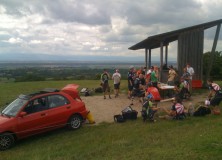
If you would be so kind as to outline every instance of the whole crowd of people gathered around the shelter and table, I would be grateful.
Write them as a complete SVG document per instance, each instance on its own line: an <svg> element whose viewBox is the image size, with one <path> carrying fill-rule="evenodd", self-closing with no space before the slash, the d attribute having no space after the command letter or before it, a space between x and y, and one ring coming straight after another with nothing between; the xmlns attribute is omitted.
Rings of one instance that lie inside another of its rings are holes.
<svg viewBox="0 0 222 160"><path fill-rule="evenodd" d="M183 69L183 74L179 77L178 73L175 71L173 66L169 66L168 79L167 84L175 86L175 95L173 98L173 104L170 110L163 109L166 112L165 116L160 116L160 118L173 118L173 119L184 119L186 113L188 113L189 108L185 109L185 106L182 103L184 96L190 96L190 92L192 90L192 78L194 75L194 69L187 64ZM103 88L104 99L106 99L106 94L108 93L110 96L110 86L109 79L113 79L114 82L114 93L115 97L119 96L119 88L121 81L121 74L119 70L116 69L115 73L110 76L106 69L101 74L101 86ZM141 98L142 102L142 116L144 121L149 119L150 121L154 121L154 114L158 111L158 107L153 105L153 96L151 93L147 92L147 88L150 86L158 88L158 78L159 78L159 70L156 66L151 66L149 70L145 67L141 67L139 70L136 70L134 66L129 67L128 71L128 98L132 98L134 96L138 96ZM178 82L176 79L180 79ZM219 110L219 104L222 101L222 90L221 87L214 83L211 79L207 80L207 84L209 85L209 104L213 106L213 112Z"/></svg>

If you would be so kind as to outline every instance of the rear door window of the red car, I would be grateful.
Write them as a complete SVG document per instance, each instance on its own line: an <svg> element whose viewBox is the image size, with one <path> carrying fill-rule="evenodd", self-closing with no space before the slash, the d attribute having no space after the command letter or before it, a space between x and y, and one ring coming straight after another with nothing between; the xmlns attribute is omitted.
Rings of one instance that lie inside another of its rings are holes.
<svg viewBox="0 0 222 160"><path fill-rule="evenodd" d="M64 106L66 104L69 104L69 101L67 98L65 98L62 95L52 95L48 96L48 101L49 101L49 108L55 108L59 106Z"/></svg>

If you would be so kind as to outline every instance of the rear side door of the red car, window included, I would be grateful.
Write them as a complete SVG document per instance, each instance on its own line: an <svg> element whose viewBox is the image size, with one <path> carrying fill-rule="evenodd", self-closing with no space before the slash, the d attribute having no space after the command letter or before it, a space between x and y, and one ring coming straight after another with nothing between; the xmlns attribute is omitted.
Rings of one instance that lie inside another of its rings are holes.
<svg viewBox="0 0 222 160"><path fill-rule="evenodd" d="M67 119L72 114L70 101L63 95L53 94L48 96L48 105L48 125L56 128L66 125Z"/></svg>

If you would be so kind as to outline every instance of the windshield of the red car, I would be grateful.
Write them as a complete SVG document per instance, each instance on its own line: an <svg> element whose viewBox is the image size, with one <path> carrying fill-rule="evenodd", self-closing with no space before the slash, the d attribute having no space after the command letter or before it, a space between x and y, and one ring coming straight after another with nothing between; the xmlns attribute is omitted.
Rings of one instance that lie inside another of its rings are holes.
<svg viewBox="0 0 222 160"><path fill-rule="evenodd" d="M28 102L27 99L17 98L3 109L2 114L10 117L16 116L18 111Z"/></svg>

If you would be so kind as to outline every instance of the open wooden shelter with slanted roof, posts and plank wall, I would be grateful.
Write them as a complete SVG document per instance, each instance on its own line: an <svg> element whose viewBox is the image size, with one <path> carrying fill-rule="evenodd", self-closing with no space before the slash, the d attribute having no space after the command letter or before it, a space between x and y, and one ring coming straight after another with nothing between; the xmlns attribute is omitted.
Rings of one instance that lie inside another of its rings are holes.
<svg viewBox="0 0 222 160"><path fill-rule="evenodd" d="M129 49L138 50L145 49L145 65L151 66L151 50L160 48L160 81L163 77L163 64L168 64L168 45L170 42L178 40L178 53L177 53L177 65L179 74L182 73L186 63L195 70L195 79L203 78L203 47L204 47L204 30L217 26L214 43L212 47L212 53L215 52L220 26L222 19L211 21L163 34L150 36L145 40L131 46ZM163 50L165 47L165 62L163 62ZM212 58L213 60L213 58ZM209 66L212 67L212 66ZM209 68L211 69L211 68Z"/></svg>

